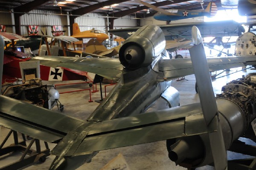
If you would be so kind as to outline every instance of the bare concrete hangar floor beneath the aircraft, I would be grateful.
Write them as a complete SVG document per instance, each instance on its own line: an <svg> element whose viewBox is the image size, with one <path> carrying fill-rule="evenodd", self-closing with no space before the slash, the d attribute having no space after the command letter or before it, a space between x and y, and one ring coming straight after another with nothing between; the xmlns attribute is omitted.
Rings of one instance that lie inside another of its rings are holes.
<svg viewBox="0 0 256 170"><path fill-rule="evenodd" d="M240 68L231 69L231 72L240 70ZM212 81L215 94L221 93L221 87L227 82L240 78L241 75L247 75L252 70L238 72L233 75L229 75L224 78L219 78ZM228 74L224 72L222 75ZM172 81L172 86L174 86L180 92L180 105L192 104L199 102L198 94L195 92L195 76L189 75L185 76L186 80L174 80ZM73 81L74 82L74 81ZM79 81L76 81L79 82ZM53 82L46 82L47 84L52 84ZM54 82L55 83L55 82ZM67 82L58 82L67 83ZM55 83L57 84L57 83ZM75 85L75 86L60 86L58 87L59 92L67 91L70 89L84 89L89 88L88 85ZM112 87L107 87L107 92L110 91ZM103 89L104 92L104 89ZM64 104L63 114L70 115L76 118L86 119L91 112L99 105L94 100L100 99L99 92L92 93L93 102L88 102L89 95L87 91L66 93L60 95L60 101ZM159 99L148 111L154 111L157 109L168 108L166 102L163 99ZM54 107L53 110L57 110ZM1 140L3 141L3 136L8 131L5 128L1 128ZM8 144L13 141L9 140ZM55 144L49 144L50 148L53 148ZM140 144L131 147L122 147L111 150L105 150L99 152L89 164L84 164L78 168L78 170L100 170L105 164L107 164L112 158L116 157L119 153L122 153L125 160L127 161L131 170L186 170L186 168L176 166L174 162L170 161L168 158L168 153L166 150L166 141L158 141L148 144ZM20 154L16 153L15 156L9 158L0 158L0 167L6 164L12 163L15 159L19 158ZM228 152L229 158L233 157L234 154ZM239 155L241 156L241 155ZM243 157L244 158L244 157ZM28 167L23 168L23 170L47 170L54 159L54 156L48 156L44 163L35 163ZM197 170L214 170L213 167L205 166L197 168Z"/></svg>

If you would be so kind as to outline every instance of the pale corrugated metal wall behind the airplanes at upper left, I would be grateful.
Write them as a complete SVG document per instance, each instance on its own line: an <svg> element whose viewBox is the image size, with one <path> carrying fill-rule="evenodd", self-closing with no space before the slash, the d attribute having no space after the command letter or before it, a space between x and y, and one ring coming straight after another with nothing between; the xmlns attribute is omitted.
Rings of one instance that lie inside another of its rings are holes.
<svg viewBox="0 0 256 170"><path fill-rule="evenodd" d="M12 19L13 14L9 13L9 11L6 9L0 9L0 11L0 25L9 25L6 26L6 32L14 32L14 28L12 26L14 24ZM21 35L28 35L29 25L38 25L39 34L41 34L42 30L44 34L47 32L47 35L52 35L52 26L61 25L63 26L63 30L66 31L64 34L69 35L67 15L64 15L64 12L63 15L59 15L59 13L60 12L54 11L32 10L27 14L23 14L20 17ZM75 22L78 23L81 31L95 28L103 32L107 32L108 28L108 18L104 17L102 14L88 13L84 16L77 17ZM137 26L137 21L129 16L114 20L114 29L129 28L134 26Z"/></svg>

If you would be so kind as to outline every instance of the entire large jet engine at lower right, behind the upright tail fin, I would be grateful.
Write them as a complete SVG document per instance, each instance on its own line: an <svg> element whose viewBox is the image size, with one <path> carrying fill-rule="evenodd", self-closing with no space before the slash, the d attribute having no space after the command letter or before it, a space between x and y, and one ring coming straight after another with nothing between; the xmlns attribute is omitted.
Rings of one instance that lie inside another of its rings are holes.
<svg viewBox="0 0 256 170"><path fill-rule="evenodd" d="M250 133L250 122L256 118L256 74L230 81L216 95L216 103L226 150L234 140ZM249 130L249 131L248 131ZM252 127L251 127L252 130ZM208 134L168 139L169 158L187 168L213 162Z"/></svg>

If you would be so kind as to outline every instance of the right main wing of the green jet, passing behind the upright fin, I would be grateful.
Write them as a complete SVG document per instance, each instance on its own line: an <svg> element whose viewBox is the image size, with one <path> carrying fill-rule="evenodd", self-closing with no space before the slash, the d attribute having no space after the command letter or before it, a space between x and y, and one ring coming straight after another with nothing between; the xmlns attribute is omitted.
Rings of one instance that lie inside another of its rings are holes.
<svg viewBox="0 0 256 170"><path fill-rule="evenodd" d="M226 58L207 58L209 71L230 69L246 65L255 65L255 56L226 57ZM166 80L172 80L185 75L194 74L192 61L190 58L161 60L159 70L164 73Z"/></svg>

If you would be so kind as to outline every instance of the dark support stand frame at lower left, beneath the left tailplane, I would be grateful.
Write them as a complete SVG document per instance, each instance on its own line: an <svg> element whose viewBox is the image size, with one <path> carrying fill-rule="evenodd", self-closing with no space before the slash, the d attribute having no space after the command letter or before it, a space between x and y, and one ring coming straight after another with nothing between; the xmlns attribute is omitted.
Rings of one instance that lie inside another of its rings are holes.
<svg viewBox="0 0 256 170"><path fill-rule="evenodd" d="M9 145L8 147L3 147L3 145L6 143L8 138L12 135L12 133L14 138L14 144ZM47 142L44 142L46 149L41 150L40 141L38 139L32 138L29 145L26 146L25 135L22 134L22 137L23 137L23 141L19 142L17 132L10 130L6 138L3 140L2 144L0 145L0 156L4 156L12 152L22 152L23 154L18 161L15 161L12 164L1 167L0 170L16 170L21 167L25 167L29 164L32 164L36 161L44 162L46 160L46 157L50 155L50 150ZM32 144L34 142L35 142L36 150L31 149ZM12 156L12 154L8 156Z"/></svg>

